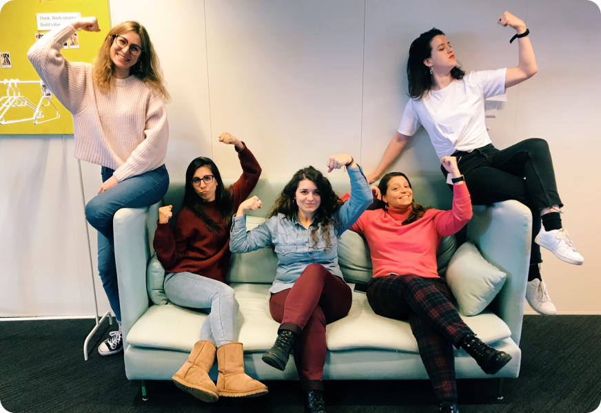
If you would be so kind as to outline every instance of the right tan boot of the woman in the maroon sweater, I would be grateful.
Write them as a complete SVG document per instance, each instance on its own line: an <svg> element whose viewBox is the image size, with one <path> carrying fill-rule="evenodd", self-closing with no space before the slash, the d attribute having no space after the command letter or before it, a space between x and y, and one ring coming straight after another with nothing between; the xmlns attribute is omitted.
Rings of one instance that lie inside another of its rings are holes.
<svg viewBox="0 0 601 413"><path fill-rule="evenodd" d="M227 343L217 349L217 392L225 397L256 397L267 394L267 386L244 372L242 343Z"/></svg>

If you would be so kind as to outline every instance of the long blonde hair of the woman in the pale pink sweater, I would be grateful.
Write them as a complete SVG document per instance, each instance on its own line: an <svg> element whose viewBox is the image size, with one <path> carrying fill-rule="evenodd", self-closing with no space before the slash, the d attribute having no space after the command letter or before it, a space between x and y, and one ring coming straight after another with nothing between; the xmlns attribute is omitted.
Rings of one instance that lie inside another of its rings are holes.
<svg viewBox="0 0 601 413"><path fill-rule="evenodd" d="M108 32L104 42L98 50L98 56L94 59L94 69L92 70L92 79L96 87L103 92L110 90L110 83L113 77L114 64L110 59L110 47L116 34L135 32L142 40L142 53L138 56L136 64L130 68L133 76L146 83L156 92L163 96L165 101L170 99L169 92L165 87L163 71L159 65L159 57L154 52L150 36L143 25L137 21L124 21L114 26Z"/></svg>

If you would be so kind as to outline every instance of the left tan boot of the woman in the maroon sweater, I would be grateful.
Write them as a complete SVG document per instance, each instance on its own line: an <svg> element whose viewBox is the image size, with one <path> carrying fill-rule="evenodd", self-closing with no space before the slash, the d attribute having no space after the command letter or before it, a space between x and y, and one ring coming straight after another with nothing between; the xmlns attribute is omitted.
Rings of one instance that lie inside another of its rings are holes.
<svg viewBox="0 0 601 413"><path fill-rule="evenodd" d="M210 341L196 341L190 357L172 377L181 390L208 403L219 399L215 383L209 377L209 370L215 362L215 350Z"/></svg>

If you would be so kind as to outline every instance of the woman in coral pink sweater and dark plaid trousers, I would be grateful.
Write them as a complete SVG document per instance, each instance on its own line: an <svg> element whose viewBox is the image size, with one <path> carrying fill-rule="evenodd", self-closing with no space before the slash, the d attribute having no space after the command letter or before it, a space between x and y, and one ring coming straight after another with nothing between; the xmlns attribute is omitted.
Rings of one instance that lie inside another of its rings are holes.
<svg viewBox="0 0 601 413"><path fill-rule="evenodd" d="M383 317L408 319L420 356L440 403L439 412L455 413L457 387L453 346L464 348L487 374L505 366L511 356L483 343L451 304L451 293L436 271L436 250L471 218L471 201L454 156L442 158L454 182L453 209L439 211L413 200L405 174L387 173L372 187L385 206L365 211L350 230L365 236L374 277L367 300Z"/></svg>

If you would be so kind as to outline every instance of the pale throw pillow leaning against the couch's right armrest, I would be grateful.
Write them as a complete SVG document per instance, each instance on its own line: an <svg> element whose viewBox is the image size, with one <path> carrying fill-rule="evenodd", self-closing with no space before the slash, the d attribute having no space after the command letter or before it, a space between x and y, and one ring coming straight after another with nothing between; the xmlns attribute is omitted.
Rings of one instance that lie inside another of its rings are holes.
<svg viewBox="0 0 601 413"><path fill-rule="evenodd" d="M447 268L447 283L465 315L484 310L499 293L507 275L482 257L471 242L459 247Z"/></svg>

